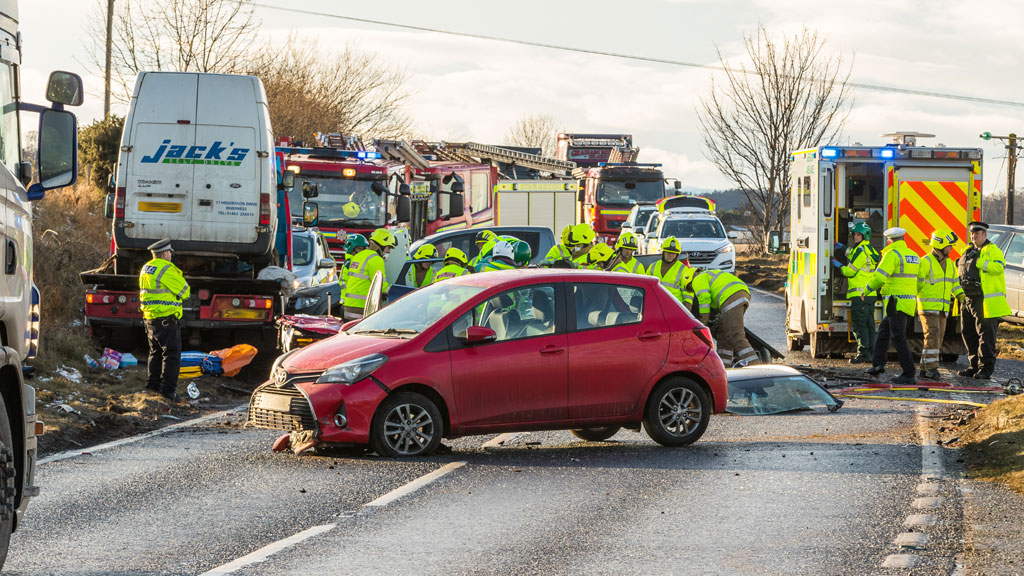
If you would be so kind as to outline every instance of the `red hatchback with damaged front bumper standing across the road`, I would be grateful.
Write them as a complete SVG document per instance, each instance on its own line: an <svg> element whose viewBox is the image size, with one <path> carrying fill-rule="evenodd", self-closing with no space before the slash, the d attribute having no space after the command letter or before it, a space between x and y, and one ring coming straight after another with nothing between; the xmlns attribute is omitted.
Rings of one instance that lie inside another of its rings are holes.
<svg viewBox="0 0 1024 576"><path fill-rule="evenodd" d="M725 410L711 333L644 276L564 270L476 274L410 293L278 359L250 425L293 450L367 445L419 456L441 438L639 429L695 442Z"/></svg>

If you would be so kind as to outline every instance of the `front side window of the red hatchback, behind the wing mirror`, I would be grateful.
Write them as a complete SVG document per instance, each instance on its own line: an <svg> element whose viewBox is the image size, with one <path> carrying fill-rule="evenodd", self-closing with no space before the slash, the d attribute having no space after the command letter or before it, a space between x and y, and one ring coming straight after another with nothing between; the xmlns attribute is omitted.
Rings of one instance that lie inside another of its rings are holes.
<svg viewBox="0 0 1024 576"><path fill-rule="evenodd" d="M554 334L555 287L544 284L502 292L456 320L452 332L459 336L470 326L490 328L499 342Z"/></svg>

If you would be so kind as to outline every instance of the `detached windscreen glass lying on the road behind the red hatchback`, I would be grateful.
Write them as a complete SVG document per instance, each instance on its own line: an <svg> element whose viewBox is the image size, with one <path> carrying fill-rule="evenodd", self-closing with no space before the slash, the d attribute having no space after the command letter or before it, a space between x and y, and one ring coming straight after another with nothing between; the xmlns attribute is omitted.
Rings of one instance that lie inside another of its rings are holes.
<svg viewBox="0 0 1024 576"><path fill-rule="evenodd" d="M729 381L725 411L739 415L779 414L824 406L835 412L843 406L821 384L800 375L769 376Z"/></svg>

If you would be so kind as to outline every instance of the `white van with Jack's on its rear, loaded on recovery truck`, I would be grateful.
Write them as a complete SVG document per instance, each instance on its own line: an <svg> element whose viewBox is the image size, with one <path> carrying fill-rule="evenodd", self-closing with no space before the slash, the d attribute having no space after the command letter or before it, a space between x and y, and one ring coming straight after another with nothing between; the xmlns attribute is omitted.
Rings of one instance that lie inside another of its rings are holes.
<svg viewBox="0 0 1024 576"><path fill-rule="evenodd" d="M254 76L143 72L118 163L119 256L170 238L178 253L273 254L273 135Z"/></svg>

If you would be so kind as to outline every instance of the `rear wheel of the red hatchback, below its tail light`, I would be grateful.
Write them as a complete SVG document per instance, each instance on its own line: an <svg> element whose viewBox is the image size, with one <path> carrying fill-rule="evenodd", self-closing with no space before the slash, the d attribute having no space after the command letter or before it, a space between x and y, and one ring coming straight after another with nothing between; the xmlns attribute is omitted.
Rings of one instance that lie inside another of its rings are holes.
<svg viewBox="0 0 1024 576"><path fill-rule="evenodd" d="M708 393L699 384L674 376L654 386L644 409L643 427L662 446L687 446L703 435L711 411Z"/></svg>

